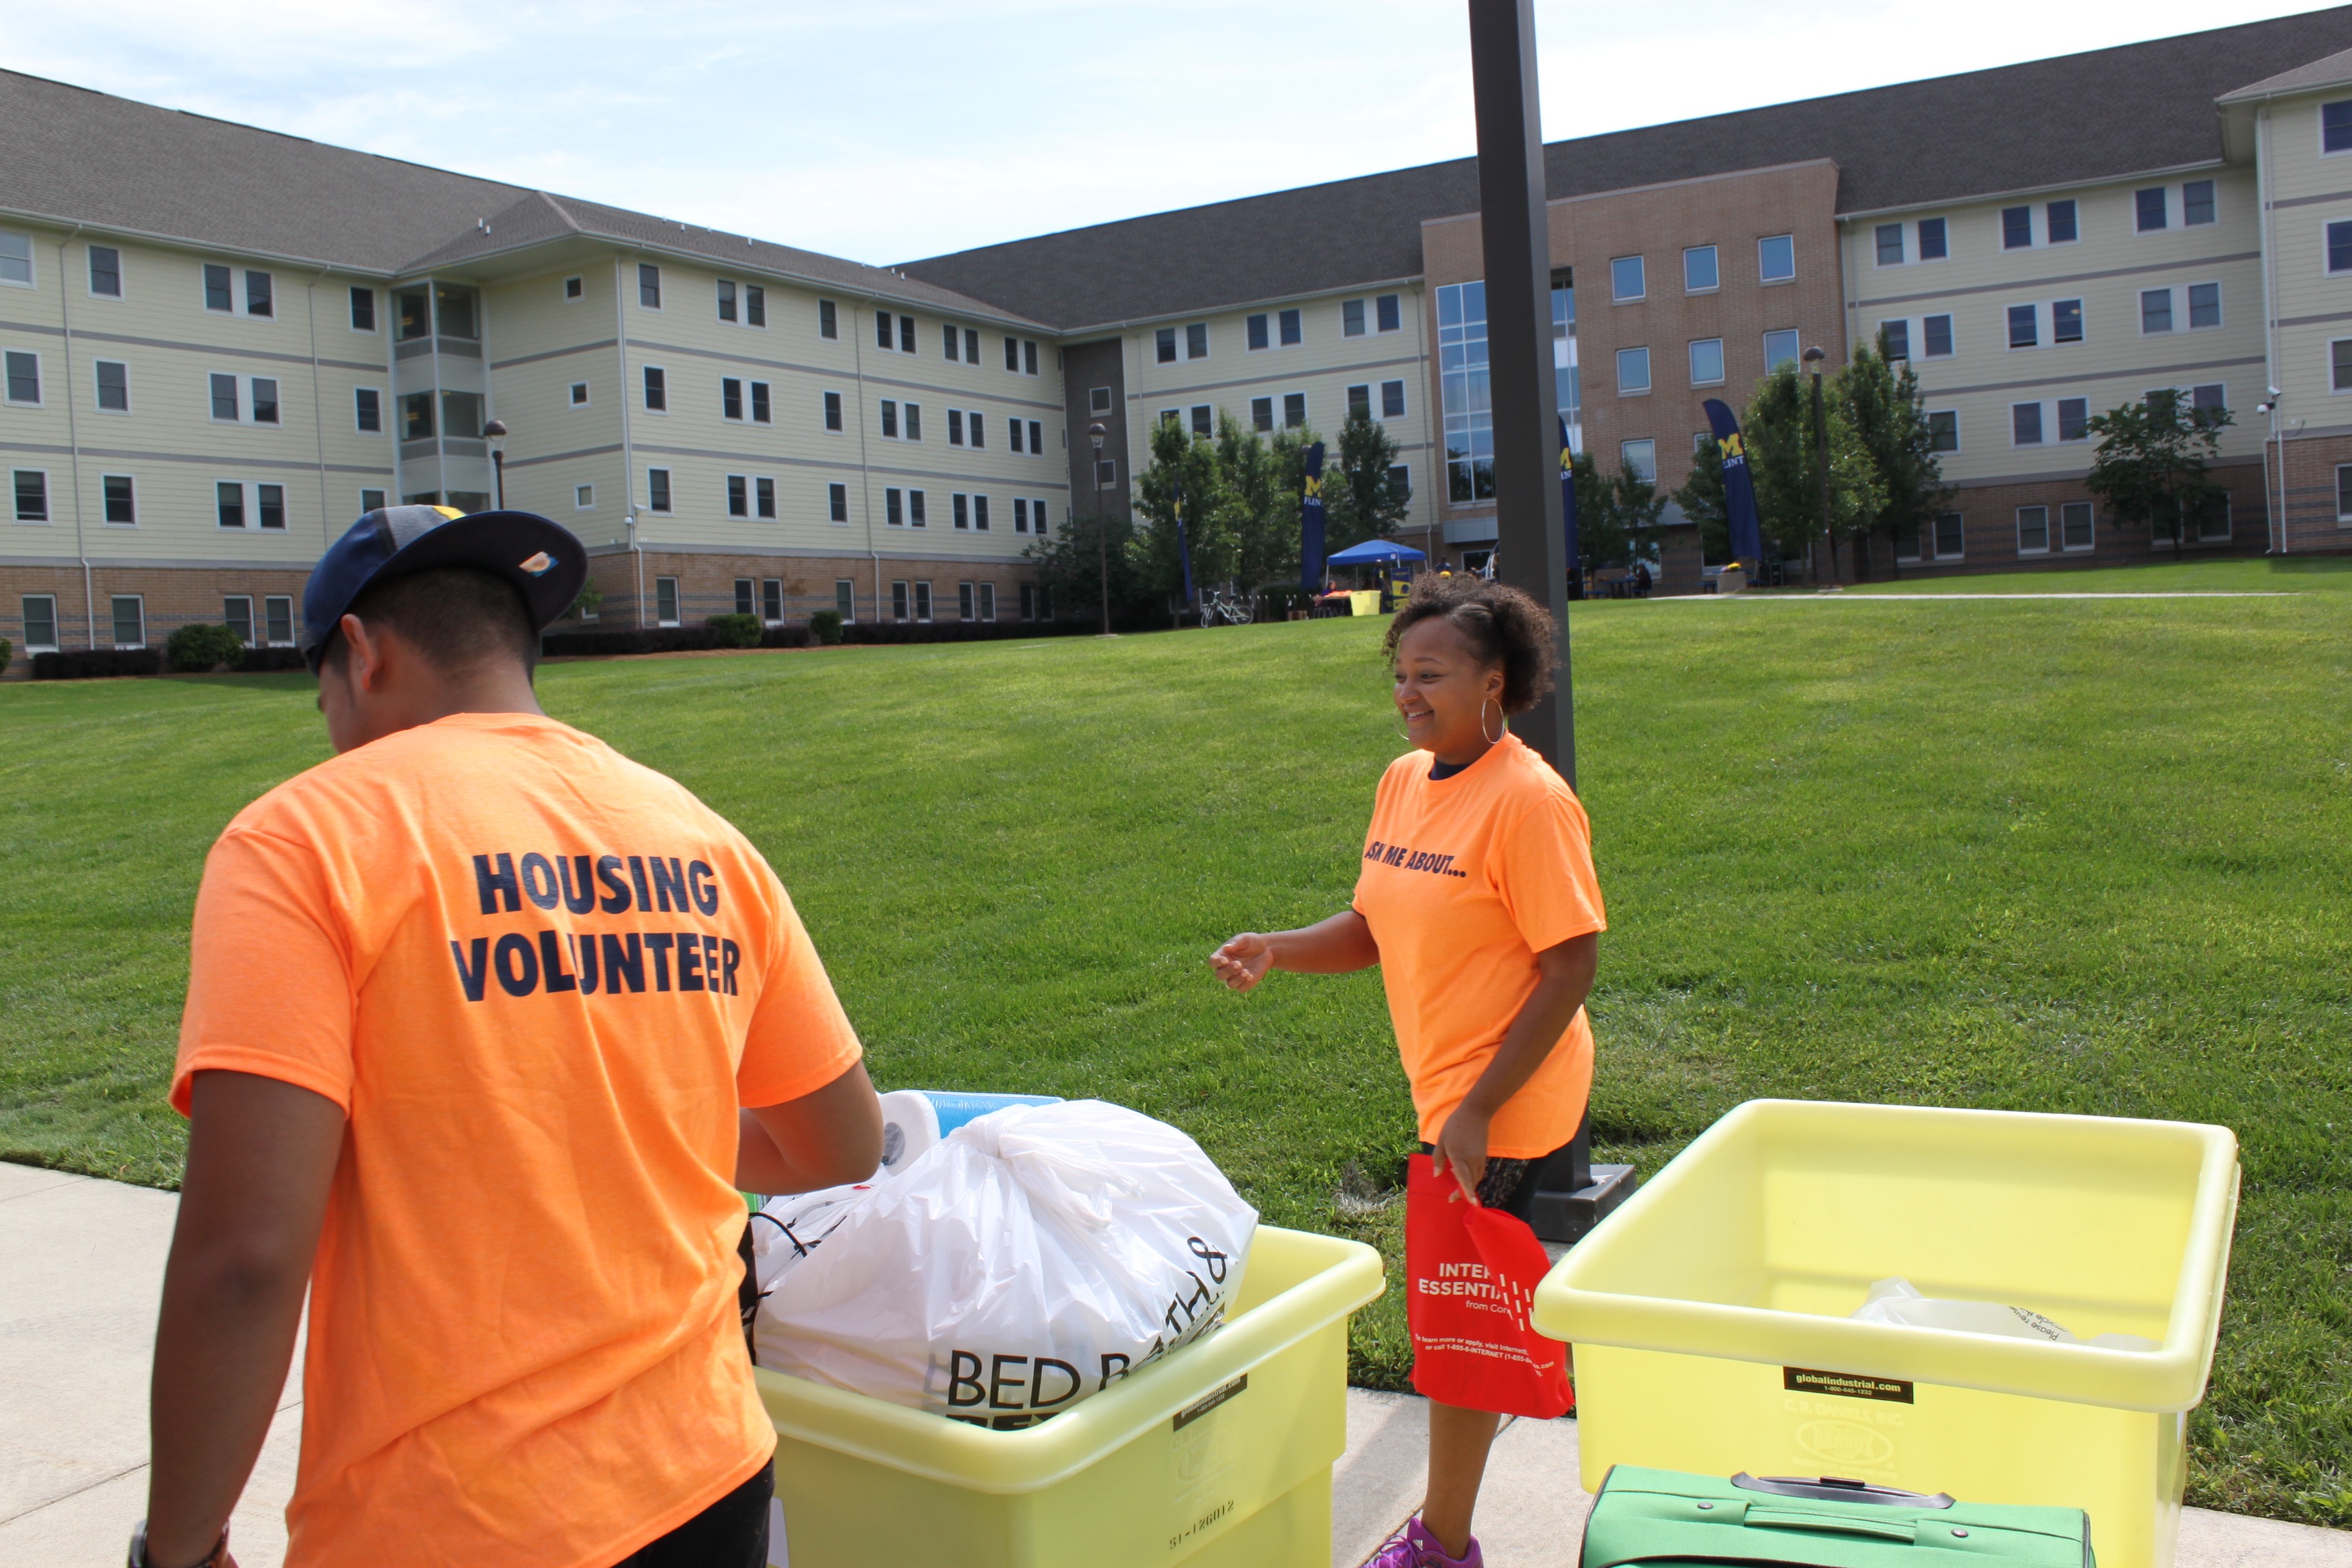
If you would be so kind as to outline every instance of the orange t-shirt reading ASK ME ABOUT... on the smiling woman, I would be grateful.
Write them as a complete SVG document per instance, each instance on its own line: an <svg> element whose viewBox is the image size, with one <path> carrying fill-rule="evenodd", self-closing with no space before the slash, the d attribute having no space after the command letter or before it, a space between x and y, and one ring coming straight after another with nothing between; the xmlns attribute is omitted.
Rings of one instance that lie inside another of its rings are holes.
<svg viewBox="0 0 2352 1568"><path fill-rule="evenodd" d="M1536 954L1609 929L1592 825L1552 764L1510 733L1451 778L1430 778L1430 762L1409 752L1388 764L1355 879L1423 1143L1437 1143L1536 992ZM1576 1135L1590 1091L1592 1025L1576 1009L1496 1112L1486 1152L1550 1154Z"/></svg>

